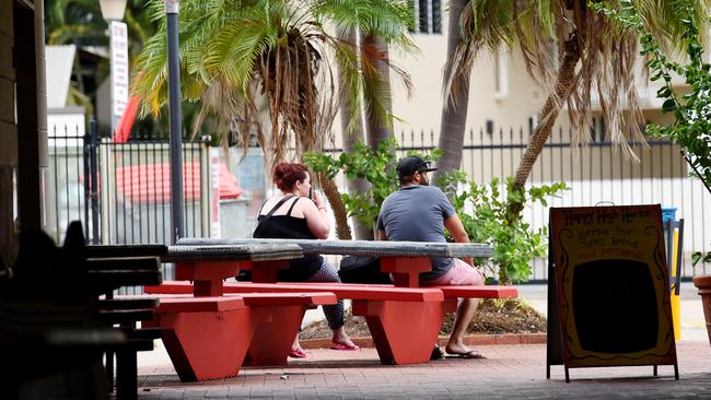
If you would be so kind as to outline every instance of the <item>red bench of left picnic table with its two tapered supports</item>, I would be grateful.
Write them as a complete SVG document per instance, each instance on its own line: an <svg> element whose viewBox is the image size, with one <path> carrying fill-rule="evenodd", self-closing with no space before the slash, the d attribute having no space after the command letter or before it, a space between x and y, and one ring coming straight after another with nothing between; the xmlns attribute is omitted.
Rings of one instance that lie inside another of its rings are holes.
<svg viewBox="0 0 711 400"><path fill-rule="evenodd" d="M285 365L306 308L337 302L333 293L323 292L159 298L155 318L144 325L161 328L183 381L235 376L245 360Z"/></svg>

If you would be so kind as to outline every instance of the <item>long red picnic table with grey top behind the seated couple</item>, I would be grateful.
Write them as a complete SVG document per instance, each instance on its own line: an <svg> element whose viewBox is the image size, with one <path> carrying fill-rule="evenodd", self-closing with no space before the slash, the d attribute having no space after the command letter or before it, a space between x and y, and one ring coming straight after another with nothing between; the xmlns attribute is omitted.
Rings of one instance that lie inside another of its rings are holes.
<svg viewBox="0 0 711 400"><path fill-rule="evenodd" d="M236 251L245 246L281 249L298 246L302 254L381 256L381 269L394 275L395 284L277 283L278 270L288 266L283 260L263 260L256 264L221 258L221 254L230 255L231 249ZM419 274L432 268L431 257L489 257L491 247L482 244L183 238L168 249L168 259L171 252L191 255L191 262L205 269L212 262L231 264L224 274L211 277L209 285L215 287L212 293L330 292L339 298L352 299L353 315L365 317L384 364L428 362L444 316L456 309L459 297L500 298L517 295L512 286L419 286ZM253 270L253 282L222 282L228 278L225 274L236 275L242 266ZM160 286L147 287L147 292L173 295L200 293L197 284L185 282L191 279L189 275L178 279L184 282L165 282Z"/></svg>

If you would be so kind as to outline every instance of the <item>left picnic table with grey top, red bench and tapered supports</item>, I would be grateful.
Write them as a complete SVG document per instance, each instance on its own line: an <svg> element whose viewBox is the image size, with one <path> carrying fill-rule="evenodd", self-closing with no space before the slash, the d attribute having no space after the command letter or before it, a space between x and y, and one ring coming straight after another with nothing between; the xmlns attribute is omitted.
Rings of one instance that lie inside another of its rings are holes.
<svg viewBox="0 0 711 400"><path fill-rule="evenodd" d="M327 292L224 295L223 281L242 269L287 268L303 257L296 245L171 246L163 262L175 262L176 279L191 281L188 292L160 293L156 317L165 349L184 381L224 378L238 373L248 355L253 365L284 365L304 313L335 304ZM186 282L187 283L187 282ZM160 287L160 286L154 286Z"/></svg>

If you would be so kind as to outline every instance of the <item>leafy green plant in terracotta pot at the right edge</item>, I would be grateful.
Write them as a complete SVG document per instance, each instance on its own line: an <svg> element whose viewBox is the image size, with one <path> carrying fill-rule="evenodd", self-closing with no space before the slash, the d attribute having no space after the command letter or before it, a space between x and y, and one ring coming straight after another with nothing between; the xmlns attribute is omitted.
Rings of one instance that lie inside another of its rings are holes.
<svg viewBox="0 0 711 400"><path fill-rule="evenodd" d="M706 26L708 14L699 12L696 1L679 1L673 5L684 15L680 48L686 52L684 63L672 61L660 42L645 26L630 0L605 1L593 4L620 23L620 28L634 30L640 36L641 54L649 60L646 66L652 81L662 81L656 92L663 101L662 111L674 113L674 122L667 126L650 125L646 132L653 137L667 138L683 149L684 157L711 193L711 64L703 61L703 40L700 26ZM704 15L704 16L701 16ZM684 78L688 93L679 94L672 85L672 75ZM711 251L695 252L692 263L711 262ZM696 275L693 284L702 297L703 314L711 342L711 275Z"/></svg>

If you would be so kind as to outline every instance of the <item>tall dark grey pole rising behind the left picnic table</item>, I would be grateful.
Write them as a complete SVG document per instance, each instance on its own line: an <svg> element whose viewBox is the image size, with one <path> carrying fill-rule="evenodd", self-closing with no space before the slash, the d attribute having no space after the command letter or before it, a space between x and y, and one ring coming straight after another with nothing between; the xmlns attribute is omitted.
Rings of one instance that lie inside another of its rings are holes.
<svg viewBox="0 0 711 400"><path fill-rule="evenodd" d="M165 0L167 22L168 133L171 138L171 245L185 236L183 219L183 128L180 126L180 60L178 55L179 0Z"/></svg>

